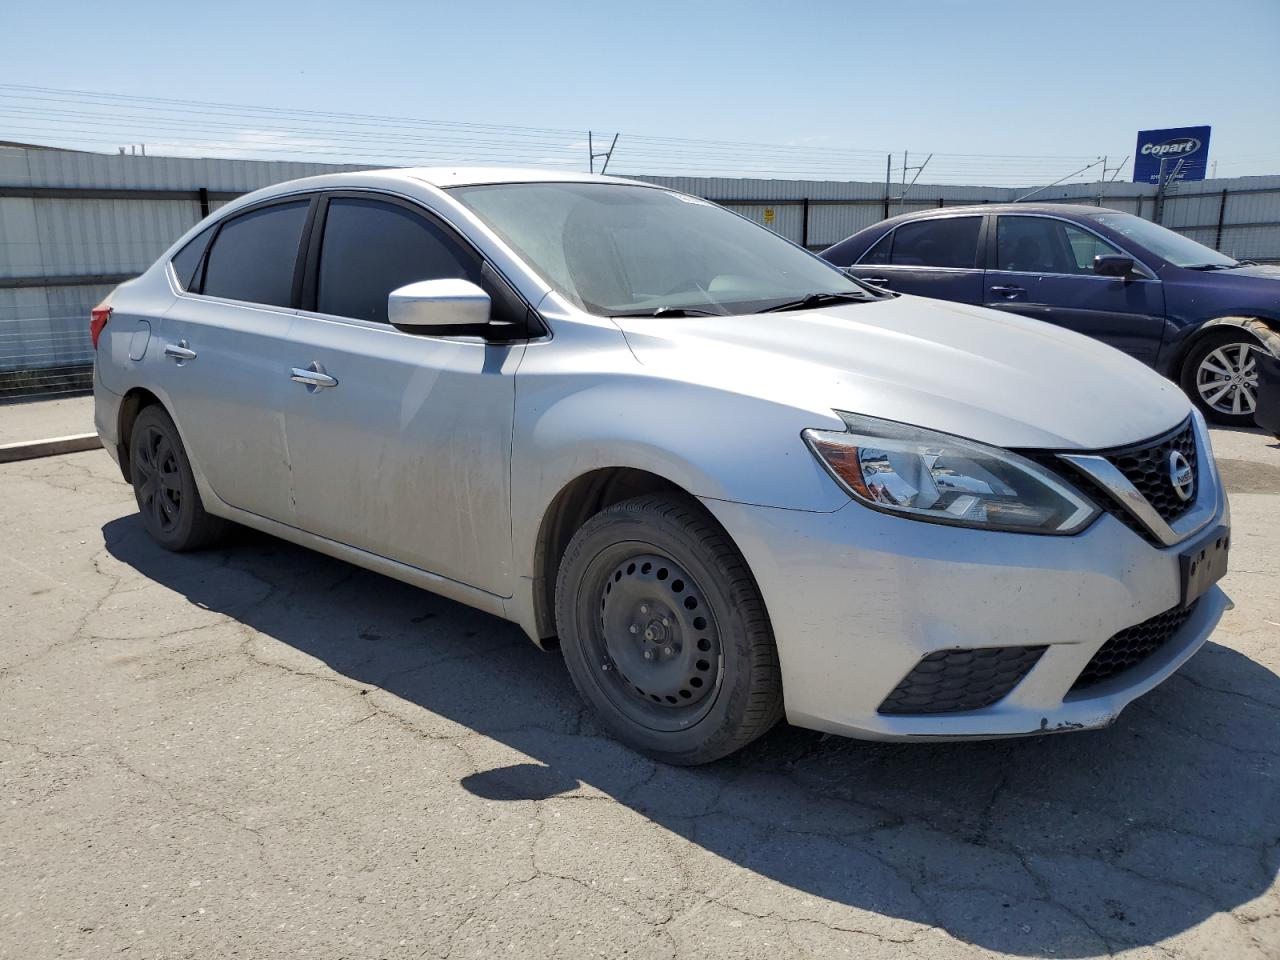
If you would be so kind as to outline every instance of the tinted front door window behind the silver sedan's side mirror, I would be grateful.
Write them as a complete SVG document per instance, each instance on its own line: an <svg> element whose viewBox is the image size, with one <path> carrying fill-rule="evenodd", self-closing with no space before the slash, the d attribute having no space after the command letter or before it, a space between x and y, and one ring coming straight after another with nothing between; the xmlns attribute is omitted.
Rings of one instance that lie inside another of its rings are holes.
<svg viewBox="0 0 1280 960"><path fill-rule="evenodd" d="M480 279L480 261L412 210L376 200L329 201L316 310L387 323L387 296L417 280Z"/></svg>

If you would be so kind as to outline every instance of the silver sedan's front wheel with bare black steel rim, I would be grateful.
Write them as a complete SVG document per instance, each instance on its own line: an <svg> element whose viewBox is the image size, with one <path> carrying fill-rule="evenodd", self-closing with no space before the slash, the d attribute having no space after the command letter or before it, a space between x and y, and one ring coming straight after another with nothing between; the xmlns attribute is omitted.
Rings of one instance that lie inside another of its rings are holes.
<svg viewBox="0 0 1280 960"><path fill-rule="evenodd" d="M654 759L710 763L782 717L759 588L694 502L635 497L584 524L561 561L556 622L579 694Z"/></svg>

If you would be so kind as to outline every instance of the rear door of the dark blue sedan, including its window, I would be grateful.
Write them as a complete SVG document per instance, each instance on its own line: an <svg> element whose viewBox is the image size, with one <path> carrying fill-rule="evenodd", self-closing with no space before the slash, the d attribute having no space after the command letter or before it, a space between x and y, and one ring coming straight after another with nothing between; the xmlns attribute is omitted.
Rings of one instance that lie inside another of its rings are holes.
<svg viewBox="0 0 1280 960"><path fill-rule="evenodd" d="M980 303L983 270L978 251L983 219L968 214L899 224L849 273L899 293Z"/></svg>

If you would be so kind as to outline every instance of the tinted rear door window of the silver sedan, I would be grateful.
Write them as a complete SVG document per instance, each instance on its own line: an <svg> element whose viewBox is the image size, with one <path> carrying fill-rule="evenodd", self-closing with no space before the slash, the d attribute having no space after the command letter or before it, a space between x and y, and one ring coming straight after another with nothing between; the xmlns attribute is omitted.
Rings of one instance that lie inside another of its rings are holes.
<svg viewBox="0 0 1280 960"><path fill-rule="evenodd" d="M293 268L310 202L275 204L224 223L205 264L204 293L292 306Z"/></svg>

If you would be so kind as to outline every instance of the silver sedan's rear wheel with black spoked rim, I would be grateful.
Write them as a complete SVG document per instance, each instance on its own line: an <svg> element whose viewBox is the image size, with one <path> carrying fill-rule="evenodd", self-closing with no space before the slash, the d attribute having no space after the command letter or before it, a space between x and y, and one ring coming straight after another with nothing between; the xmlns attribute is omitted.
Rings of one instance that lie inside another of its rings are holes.
<svg viewBox="0 0 1280 960"><path fill-rule="evenodd" d="M166 550L210 547L228 522L205 511L178 428L163 407L145 407L129 435L129 476L142 525Z"/></svg>

